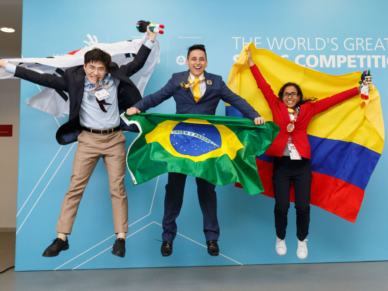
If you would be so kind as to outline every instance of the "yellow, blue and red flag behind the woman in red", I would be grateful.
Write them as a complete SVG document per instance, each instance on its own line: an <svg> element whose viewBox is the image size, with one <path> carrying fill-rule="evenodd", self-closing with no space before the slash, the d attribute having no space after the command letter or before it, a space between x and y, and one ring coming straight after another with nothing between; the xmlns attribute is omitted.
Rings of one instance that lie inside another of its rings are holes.
<svg viewBox="0 0 388 291"><path fill-rule="evenodd" d="M287 82L300 85L305 97L323 99L358 86L361 72L332 76L299 66L265 50L246 45L230 70L228 87L245 98L265 120L272 112L247 64L245 48L250 47L253 61L274 92ZM355 222L364 190L371 177L384 144L384 124L380 96L370 86L369 100L354 97L331 107L312 118L307 128L311 147L311 204ZM226 115L241 116L232 106ZM256 159L264 195L274 197L272 188L273 158ZM294 202L294 189L290 193Z"/></svg>

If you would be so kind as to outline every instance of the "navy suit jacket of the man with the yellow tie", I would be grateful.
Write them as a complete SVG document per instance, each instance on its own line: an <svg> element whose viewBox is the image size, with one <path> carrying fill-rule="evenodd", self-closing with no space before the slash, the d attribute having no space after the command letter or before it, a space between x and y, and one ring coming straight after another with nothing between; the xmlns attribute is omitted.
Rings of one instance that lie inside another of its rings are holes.
<svg viewBox="0 0 388 291"><path fill-rule="evenodd" d="M190 88L182 89L181 82L187 84L189 71L175 73L171 79L158 92L145 96L142 100L133 105L140 111L155 107L171 96L177 104L176 114L206 114L214 115L220 99L236 107L244 116L255 119L260 114L252 106L242 99L239 95L233 93L222 81L222 77L204 72L206 91L201 99L196 103Z"/></svg>

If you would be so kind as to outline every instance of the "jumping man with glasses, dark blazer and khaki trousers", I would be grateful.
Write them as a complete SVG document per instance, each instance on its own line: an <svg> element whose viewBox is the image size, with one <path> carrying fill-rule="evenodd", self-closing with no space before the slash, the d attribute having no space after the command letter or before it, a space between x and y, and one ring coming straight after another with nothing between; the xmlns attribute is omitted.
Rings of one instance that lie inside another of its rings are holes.
<svg viewBox="0 0 388 291"><path fill-rule="evenodd" d="M109 178L114 232L113 255L125 256L125 238L128 232L128 201L124 187L125 137L120 127L119 110L125 111L141 95L128 78L145 64L154 46L156 33L147 26L148 40L140 47L132 62L120 68L111 62L111 56L100 49L85 53L83 66L66 69L63 76L40 74L20 66L0 61L0 66L16 77L62 90L69 94L69 121L56 134L59 144L78 140L73 161L70 187L63 199L59 215L57 238L45 249L43 256L57 256L69 248L67 235L71 233L83 191L100 157Z"/></svg>

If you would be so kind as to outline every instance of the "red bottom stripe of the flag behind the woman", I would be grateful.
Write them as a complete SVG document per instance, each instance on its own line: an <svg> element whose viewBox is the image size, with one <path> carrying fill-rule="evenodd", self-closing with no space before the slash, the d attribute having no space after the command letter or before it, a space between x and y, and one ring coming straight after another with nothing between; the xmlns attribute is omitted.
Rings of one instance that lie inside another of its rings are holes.
<svg viewBox="0 0 388 291"><path fill-rule="evenodd" d="M264 195L274 197L272 187L272 169L274 164L256 159L260 180L264 186ZM364 190L329 175L313 173L310 204L318 206L350 222L355 222L359 213ZM238 183L236 187L241 187ZM291 183L290 202L295 201L294 187Z"/></svg>

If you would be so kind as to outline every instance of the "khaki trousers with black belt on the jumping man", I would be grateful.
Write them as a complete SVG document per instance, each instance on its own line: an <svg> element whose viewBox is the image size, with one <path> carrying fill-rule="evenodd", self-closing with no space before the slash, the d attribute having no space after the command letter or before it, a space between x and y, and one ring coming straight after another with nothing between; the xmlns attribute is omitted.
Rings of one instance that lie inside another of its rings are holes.
<svg viewBox="0 0 388 291"><path fill-rule="evenodd" d="M85 130L78 135L70 187L63 199L56 232L71 234L83 191L100 157L108 173L114 232L128 232L128 200L124 187L125 137L121 130L105 135Z"/></svg>

